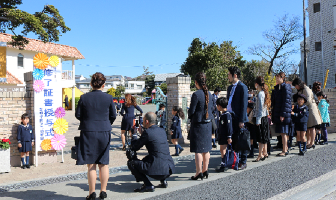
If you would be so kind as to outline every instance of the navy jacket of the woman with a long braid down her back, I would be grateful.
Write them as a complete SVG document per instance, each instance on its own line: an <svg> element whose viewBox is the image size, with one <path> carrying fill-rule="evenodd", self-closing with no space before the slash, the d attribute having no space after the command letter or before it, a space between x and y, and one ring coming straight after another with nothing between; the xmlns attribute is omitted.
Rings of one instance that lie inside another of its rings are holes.
<svg viewBox="0 0 336 200"><path fill-rule="evenodd" d="M209 93L209 102L208 102L208 118L206 117L206 107L205 107L205 95L202 89L195 91L192 95L192 99L190 102L190 107L188 110L188 118L191 119L191 122L203 122L207 120L214 119L214 115L212 114L213 100L212 95Z"/></svg>

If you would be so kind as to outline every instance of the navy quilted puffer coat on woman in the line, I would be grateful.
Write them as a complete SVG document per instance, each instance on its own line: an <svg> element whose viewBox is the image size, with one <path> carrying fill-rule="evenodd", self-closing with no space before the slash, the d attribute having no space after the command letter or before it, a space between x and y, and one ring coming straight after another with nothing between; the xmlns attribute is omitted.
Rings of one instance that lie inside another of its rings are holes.
<svg viewBox="0 0 336 200"><path fill-rule="evenodd" d="M279 89L280 87L280 89ZM289 84L283 82L281 86L278 84L274 86L271 96L272 107L272 122L281 124L291 123L291 111L292 111L292 89ZM280 116L284 117L283 121L280 121Z"/></svg>

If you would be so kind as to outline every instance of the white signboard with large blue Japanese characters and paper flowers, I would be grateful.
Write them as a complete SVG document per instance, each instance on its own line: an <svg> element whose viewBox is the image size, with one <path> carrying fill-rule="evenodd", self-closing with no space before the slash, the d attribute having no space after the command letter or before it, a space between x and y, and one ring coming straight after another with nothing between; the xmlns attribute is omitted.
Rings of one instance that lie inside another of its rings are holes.
<svg viewBox="0 0 336 200"><path fill-rule="evenodd" d="M40 92L34 90L36 154L42 151L41 142L54 136L55 110L62 106L61 67L48 66L42 81L44 89Z"/></svg>

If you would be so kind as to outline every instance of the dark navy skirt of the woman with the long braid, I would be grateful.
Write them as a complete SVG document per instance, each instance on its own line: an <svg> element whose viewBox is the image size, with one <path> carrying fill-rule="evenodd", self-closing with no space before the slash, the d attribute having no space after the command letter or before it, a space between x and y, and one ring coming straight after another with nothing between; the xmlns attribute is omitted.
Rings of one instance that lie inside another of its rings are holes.
<svg viewBox="0 0 336 200"><path fill-rule="evenodd" d="M190 127L190 152L206 153L212 148L212 125L209 122L193 122Z"/></svg>

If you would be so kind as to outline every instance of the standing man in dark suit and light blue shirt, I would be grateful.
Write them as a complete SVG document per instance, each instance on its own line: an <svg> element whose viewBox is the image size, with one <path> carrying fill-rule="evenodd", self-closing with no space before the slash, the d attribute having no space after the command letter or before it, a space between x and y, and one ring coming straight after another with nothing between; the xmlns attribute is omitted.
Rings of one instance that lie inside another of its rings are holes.
<svg viewBox="0 0 336 200"><path fill-rule="evenodd" d="M247 86L239 80L240 75L241 72L237 66L229 67L228 78L230 83L232 84L228 87L227 99L229 100L229 103L227 109L229 112L233 113L232 117L233 134L239 133L241 128L244 127L244 123L248 121L247 119L248 89ZM238 165L239 169L244 169L247 167L246 165L247 153L248 153L247 150L241 152L241 159L239 160Z"/></svg>

